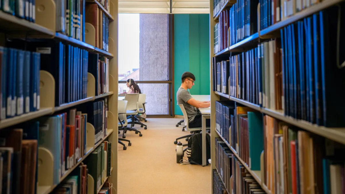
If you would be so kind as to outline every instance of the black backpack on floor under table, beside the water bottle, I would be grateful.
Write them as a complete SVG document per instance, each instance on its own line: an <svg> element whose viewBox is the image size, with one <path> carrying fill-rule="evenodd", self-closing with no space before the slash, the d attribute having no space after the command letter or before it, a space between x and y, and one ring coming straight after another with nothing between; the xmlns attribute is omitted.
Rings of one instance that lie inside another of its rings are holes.
<svg viewBox="0 0 345 194"><path fill-rule="evenodd" d="M203 144L202 134L195 133L188 140L187 157L190 164L203 164ZM208 159L211 158L210 153L210 136L206 134L206 164Z"/></svg>

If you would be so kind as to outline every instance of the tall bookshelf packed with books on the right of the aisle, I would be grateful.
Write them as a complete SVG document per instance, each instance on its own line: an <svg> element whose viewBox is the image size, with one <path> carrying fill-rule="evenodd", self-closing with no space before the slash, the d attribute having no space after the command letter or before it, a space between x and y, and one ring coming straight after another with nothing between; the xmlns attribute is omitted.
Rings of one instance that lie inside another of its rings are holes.
<svg viewBox="0 0 345 194"><path fill-rule="evenodd" d="M280 3L210 1L212 193L344 192L345 3Z"/></svg>

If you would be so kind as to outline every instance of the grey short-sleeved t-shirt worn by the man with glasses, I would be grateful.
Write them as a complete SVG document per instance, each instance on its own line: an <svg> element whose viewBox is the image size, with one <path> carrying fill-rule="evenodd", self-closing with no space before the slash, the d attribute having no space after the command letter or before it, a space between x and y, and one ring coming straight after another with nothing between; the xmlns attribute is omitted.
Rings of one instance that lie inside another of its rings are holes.
<svg viewBox="0 0 345 194"><path fill-rule="evenodd" d="M186 113L188 116L188 121L189 122L193 121L195 118L195 115L198 112L198 109L195 106L187 103L187 101L192 98L189 91L180 87L177 90L176 98L177 98L177 104L182 104L185 107Z"/></svg>

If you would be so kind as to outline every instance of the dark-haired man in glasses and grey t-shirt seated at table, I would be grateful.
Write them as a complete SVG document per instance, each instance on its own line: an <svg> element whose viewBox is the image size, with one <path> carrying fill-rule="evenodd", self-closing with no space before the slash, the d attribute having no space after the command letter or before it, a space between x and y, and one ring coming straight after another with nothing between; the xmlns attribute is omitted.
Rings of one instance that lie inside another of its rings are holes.
<svg viewBox="0 0 345 194"><path fill-rule="evenodd" d="M177 90L177 104L182 104L188 116L189 128L201 128L201 113L198 108L210 107L210 101L199 101L194 99L189 89L194 86L195 76L191 72L184 72L181 77L182 84ZM188 90L187 90L188 89ZM210 119L206 119L206 127L210 126Z"/></svg>

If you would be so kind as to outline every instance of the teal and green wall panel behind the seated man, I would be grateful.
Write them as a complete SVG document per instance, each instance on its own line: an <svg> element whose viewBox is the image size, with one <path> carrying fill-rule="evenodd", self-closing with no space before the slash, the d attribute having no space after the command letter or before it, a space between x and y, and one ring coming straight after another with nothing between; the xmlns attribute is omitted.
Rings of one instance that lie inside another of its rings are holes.
<svg viewBox="0 0 345 194"><path fill-rule="evenodd" d="M177 106L176 92L181 75L189 71L196 81L192 95L210 94L210 28L209 14L174 15L174 75L175 114L182 115Z"/></svg>

